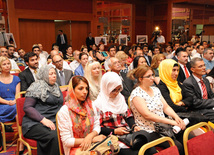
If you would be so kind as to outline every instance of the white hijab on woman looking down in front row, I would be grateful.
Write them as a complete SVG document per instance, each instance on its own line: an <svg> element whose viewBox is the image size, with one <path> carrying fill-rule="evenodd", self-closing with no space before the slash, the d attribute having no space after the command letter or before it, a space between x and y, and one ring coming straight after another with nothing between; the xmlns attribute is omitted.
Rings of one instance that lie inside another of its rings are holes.
<svg viewBox="0 0 214 155"><path fill-rule="evenodd" d="M110 93L117 87L122 86L120 76L115 72L107 72L101 79L100 93L93 102L94 106L103 113L110 111L113 114L123 114L127 111L124 96L119 93L115 98L109 98Z"/></svg>

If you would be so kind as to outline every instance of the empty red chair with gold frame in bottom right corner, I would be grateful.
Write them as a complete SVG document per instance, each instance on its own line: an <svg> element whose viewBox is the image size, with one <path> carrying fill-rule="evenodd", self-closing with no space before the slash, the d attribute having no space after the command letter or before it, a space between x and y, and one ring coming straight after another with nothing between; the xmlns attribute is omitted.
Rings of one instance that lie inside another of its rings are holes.
<svg viewBox="0 0 214 155"><path fill-rule="evenodd" d="M207 132L188 140L190 132L200 127L205 127ZM214 153L214 133L206 122L195 124L185 130L183 144L185 155L211 155Z"/></svg>

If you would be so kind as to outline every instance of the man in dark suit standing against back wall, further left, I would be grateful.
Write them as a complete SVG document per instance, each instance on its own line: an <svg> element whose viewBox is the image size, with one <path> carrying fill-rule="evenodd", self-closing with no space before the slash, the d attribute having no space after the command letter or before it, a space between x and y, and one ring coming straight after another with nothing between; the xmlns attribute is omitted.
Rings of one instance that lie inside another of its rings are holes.
<svg viewBox="0 0 214 155"><path fill-rule="evenodd" d="M58 31L58 36L56 39L56 44L59 46L59 50L62 51L63 55L66 54L66 47L68 44L67 36L63 33L62 30Z"/></svg>

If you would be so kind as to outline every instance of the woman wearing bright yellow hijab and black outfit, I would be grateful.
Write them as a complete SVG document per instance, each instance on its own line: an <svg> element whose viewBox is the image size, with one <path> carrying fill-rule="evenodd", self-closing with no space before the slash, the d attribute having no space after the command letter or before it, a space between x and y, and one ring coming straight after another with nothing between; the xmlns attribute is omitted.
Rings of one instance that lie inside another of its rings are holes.
<svg viewBox="0 0 214 155"><path fill-rule="evenodd" d="M189 125L194 125L201 121L208 121L208 118L200 113L192 112L188 103L191 102L191 96L187 96L183 86L177 81L179 74L179 65L173 59L163 60L159 65L160 83L158 88L161 91L169 106L181 117L188 118Z"/></svg>

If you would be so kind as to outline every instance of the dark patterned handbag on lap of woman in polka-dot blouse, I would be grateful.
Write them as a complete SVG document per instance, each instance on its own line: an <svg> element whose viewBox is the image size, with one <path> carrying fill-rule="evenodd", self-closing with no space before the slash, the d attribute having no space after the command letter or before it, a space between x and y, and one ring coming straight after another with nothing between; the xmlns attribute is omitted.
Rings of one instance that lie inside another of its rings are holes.
<svg viewBox="0 0 214 155"><path fill-rule="evenodd" d="M159 133L162 137L175 138L171 125L155 122L154 127L155 127L155 132Z"/></svg>

